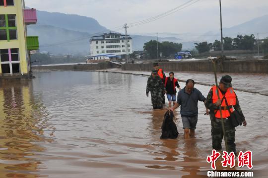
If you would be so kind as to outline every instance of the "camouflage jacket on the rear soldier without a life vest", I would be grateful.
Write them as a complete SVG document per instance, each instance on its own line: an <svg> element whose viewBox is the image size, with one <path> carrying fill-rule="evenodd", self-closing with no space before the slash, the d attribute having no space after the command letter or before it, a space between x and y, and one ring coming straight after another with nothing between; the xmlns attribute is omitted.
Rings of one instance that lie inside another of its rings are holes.
<svg viewBox="0 0 268 178"><path fill-rule="evenodd" d="M147 81L147 87L146 87L146 93L149 93L149 91L165 91L164 84L159 76L152 77L150 76Z"/></svg>

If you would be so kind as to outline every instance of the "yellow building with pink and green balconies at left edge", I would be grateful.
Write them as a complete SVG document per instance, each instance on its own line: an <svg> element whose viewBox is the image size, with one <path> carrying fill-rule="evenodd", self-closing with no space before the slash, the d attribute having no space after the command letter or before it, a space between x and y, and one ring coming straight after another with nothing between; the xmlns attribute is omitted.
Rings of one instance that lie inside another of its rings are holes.
<svg viewBox="0 0 268 178"><path fill-rule="evenodd" d="M26 26L36 22L36 9L25 9L24 0L0 0L0 77L28 76L29 53L39 42Z"/></svg>

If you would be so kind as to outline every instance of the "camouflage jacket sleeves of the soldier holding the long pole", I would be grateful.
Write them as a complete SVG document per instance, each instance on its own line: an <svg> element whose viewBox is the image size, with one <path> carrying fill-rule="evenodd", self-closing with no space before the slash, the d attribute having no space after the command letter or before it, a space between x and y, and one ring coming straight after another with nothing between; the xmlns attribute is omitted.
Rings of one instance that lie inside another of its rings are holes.
<svg viewBox="0 0 268 178"><path fill-rule="evenodd" d="M215 104L212 103L212 95L213 95L213 91L212 89L209 90L207 97L206 97L206 101L205 101L205 107L208 108L210 110L209 115L211 118L214 118L214 113L215 113L215 109L218 109L219 107L217 107ZM242 121L245 120L244 114L240 108L239 105L239 101L236 95L236 105L233 106L235 110L238 111L239 115L241 116Z"/></svg>

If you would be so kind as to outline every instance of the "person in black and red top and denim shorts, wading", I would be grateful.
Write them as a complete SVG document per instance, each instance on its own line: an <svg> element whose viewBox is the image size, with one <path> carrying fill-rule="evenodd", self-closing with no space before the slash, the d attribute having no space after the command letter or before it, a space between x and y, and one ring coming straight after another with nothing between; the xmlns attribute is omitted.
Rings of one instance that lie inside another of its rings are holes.
<svg viewBox="0 0 268 178"><path fill-rule="evenodd" d="M174 73L170 72L169 77L165 80L165 88L167 90L167 98L168 98L168 105L171 107L171 102L173 101L173 105L176 103L176 87L181 90L178 80L174 78Z"/></svg>

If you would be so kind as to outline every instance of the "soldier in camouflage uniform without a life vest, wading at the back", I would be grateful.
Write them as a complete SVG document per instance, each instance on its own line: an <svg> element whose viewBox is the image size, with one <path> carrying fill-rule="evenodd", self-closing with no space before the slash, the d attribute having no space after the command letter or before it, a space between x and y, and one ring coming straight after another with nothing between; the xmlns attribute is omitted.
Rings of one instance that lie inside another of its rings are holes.
<svg viewBox="0 0 268 178"><path fill-rule="evenodd" d="M149 91L151 92L152 105L154 109L162 109L162 94L166 92L164 84L159 76L157 76L157 71L153 70L152 75L147 81L146 95L149 96Z"/></svg>

